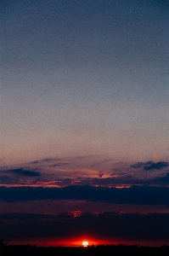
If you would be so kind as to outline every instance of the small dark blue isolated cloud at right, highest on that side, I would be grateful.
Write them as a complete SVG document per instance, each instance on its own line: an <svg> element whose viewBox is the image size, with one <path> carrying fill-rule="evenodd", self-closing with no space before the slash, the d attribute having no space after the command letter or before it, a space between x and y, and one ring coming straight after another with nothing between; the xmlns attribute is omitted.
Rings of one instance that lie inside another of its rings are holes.
<svg viewBox="0 0 169 256"><path fill-rule="evenodd" d="M130 166L131 168L142 168L144 167L144 171L150 171L150 170L161 170L162 168L166 168L168 165L167 162L153 162L153 161L148 161L148 162L138 162L132 166Z"/></svg>

